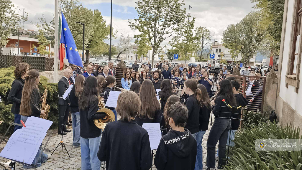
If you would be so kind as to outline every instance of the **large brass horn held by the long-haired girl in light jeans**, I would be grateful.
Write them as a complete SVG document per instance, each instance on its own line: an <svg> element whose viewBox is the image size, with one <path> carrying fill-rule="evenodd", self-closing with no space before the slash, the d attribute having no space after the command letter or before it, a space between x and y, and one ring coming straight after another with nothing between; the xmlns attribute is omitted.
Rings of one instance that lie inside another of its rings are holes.
<svg viewBox="0 0 302 170"><path fill-rule="evenodd" d="M114 116L113 111L105 108L104 99L101 98L101 96L98 96L98 107L100 108L100 110L98 110L96 113L105 112L107 118L106 119L95 119L95 120L93 120L93 122L95 123L96 127L104 130L107 123L113 122L115 120L115 116Z"/></svg>

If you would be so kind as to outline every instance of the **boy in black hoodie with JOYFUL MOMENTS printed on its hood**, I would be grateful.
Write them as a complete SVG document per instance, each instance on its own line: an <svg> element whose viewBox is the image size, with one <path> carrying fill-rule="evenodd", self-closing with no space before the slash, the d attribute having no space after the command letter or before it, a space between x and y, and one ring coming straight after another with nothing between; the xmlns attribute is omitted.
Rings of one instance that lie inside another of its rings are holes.
<svg viewBox="0 0 302 170"><path fill-rule="evenodd" d="M170 130L162 136L156 151L154 164L158 170L194 170L197 143L188 129L184 129L188 119L188 109L176 102L167 110Z"/></svg>

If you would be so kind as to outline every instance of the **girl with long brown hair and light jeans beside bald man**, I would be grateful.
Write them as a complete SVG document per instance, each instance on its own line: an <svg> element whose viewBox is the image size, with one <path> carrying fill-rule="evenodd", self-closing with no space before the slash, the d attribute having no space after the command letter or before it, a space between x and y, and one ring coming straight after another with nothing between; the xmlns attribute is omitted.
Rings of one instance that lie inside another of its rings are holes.
<svg viewBox="0 0 302 170"><path fill-rule="evenodd" d="M103 77L103 76L102 76ZM82 92L85 77L83 75L76 76L75 87L70 92L70 113L72 118L72 147L79 147L80 143L80 112L79 112L79 96Z"/></svg>

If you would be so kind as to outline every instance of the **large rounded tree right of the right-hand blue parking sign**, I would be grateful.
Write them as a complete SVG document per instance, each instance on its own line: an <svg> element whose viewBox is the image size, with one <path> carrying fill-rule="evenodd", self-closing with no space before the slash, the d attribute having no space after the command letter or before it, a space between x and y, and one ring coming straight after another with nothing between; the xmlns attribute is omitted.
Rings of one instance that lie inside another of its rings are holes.
<svg viewBox="0 0 302 170"><path fill-rule="evenodd" d="M262 17L254 12L247 14L239 23L230 24L223 32L222 43L232 52L242 56L244 65L249 63L267 33L261 26Z"/></svg>

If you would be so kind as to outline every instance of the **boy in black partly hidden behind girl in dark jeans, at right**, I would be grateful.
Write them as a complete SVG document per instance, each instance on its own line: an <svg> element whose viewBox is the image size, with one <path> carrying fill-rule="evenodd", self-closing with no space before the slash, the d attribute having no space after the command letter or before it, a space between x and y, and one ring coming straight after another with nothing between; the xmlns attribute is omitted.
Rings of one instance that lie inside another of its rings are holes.
<svg viewBox="0 0 302 170"><path fill-rule="evenodd" d="M243 97L242 94L238 93L238 89L240 87L240 83L237 80L231 80L230 81L232 86L233 86L233 93L235 95L235 99L237 102L238 106L241 107L245 107L249 101L246 100L246 98ZM236 120L236 119L241 119L241 108L238 109L236 112L236 114L233 115L233 120L232 120L232 124L231 124L231 141L230 141L230 146L235 146L235 143L233 142L233 140L235 139L235 132L238 130L238 127L240 125L240 120ZM227 137L227 143L226 146L229 146L229 139L230 139L230 131L228 132L228 137ZM217 154L216 154L216 159L218 159L218 149L217 149Z"/></svg>

